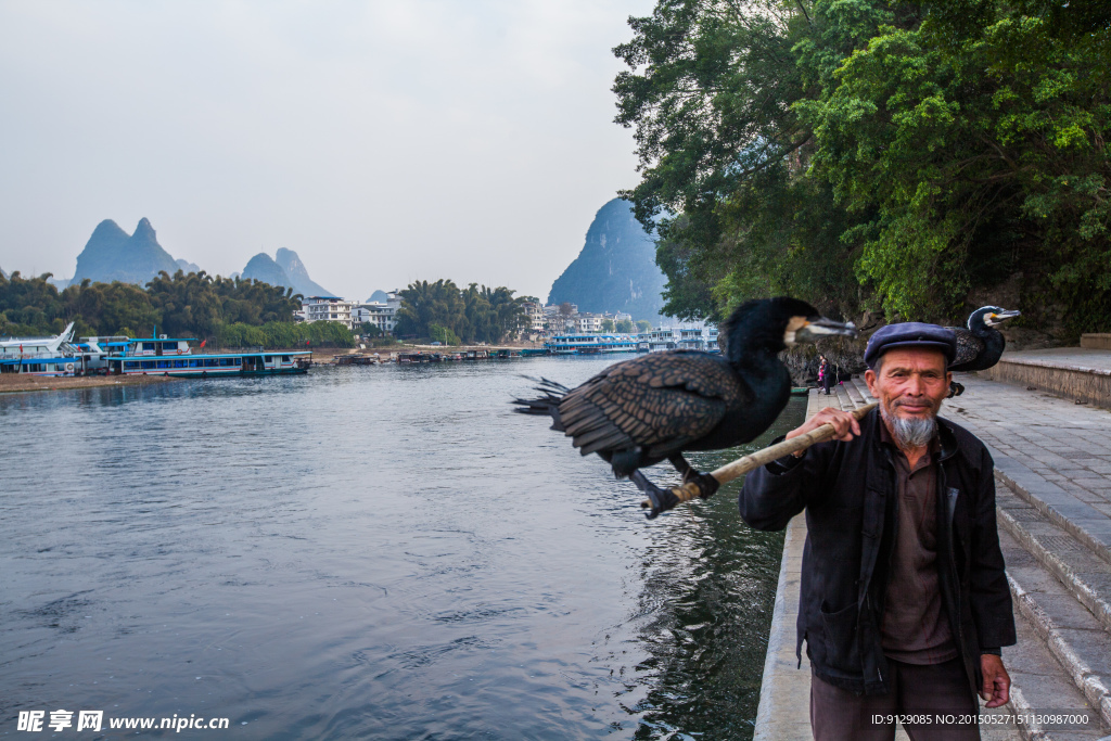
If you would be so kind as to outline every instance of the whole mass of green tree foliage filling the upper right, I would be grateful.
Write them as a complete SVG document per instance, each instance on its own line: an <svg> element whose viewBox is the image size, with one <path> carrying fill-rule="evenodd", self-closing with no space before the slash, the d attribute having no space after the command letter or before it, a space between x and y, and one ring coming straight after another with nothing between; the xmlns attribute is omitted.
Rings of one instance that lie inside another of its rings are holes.
<svg viewBox="0 0 1111 741"><path fill-rule="evenodd" d="M1010 279L1032 318L1108 328L1104 3L660 0L630 24L625 197L669 313L787 292L953 320Z"/></svg>

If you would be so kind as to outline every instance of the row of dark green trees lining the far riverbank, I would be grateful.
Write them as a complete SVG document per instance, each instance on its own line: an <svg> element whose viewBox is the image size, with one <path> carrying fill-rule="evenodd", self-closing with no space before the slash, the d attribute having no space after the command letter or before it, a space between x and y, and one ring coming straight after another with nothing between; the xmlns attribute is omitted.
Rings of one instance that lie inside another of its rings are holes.
<svg viewBox="0 0 1111 741"><path fill-rule="evenodd" d="M57 334L74 322L77 337L137 337L158 328L171 337L209 339L221 347L351 348L354 336L339 322L297 323L301 296L292 288L257 280L209 276L204 271L173 276L164 271L144 288L88 279L59 291L50 273L23 278L0 273L0 334ZM527 322L514 291L471 283L459 289L450 280L418 281L401 291L397 334L431 338L446 344L501 342ZM362 334L378 336L363 326ZM384 340L383 340L384 341Z"/></svg>

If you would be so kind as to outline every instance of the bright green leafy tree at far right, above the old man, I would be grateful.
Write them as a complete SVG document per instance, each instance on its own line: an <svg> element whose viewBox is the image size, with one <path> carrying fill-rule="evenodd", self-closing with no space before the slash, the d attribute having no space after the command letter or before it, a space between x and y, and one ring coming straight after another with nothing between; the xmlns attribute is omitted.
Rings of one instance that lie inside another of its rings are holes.
<svg viewBox="0 0 1111 741"><path fill-rule="evenodd" d="M850 211L847 239L883 304L963 313L970 289L1021 273L1023 309L1111 326L1111 9L923 4L878 29L817 102L815 174Z"/></svg>

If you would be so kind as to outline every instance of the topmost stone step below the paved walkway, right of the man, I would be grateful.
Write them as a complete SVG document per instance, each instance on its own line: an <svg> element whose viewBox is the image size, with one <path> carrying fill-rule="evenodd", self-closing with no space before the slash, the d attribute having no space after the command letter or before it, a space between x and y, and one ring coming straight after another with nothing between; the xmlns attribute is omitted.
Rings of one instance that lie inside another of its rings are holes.
<svg viewBox="0 0 1111 741"><path fill-rule="evenodd" d="M997 488L995 504L1000 527L1111 633L1111 564L1009 487Z"/></svg>

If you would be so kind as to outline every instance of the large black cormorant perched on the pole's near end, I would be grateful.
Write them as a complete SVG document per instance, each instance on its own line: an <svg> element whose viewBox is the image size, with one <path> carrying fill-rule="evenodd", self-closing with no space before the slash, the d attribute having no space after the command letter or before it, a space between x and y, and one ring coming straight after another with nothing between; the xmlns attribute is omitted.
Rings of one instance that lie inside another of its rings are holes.
<svg viewBox="0 0 1111 741"><path fill-rule="evenodd" d="M689 450L745 443L787 405L791 374L777 354L788 346L835 334L854 337L852 322L825 319L791 298L748 301L722 324L723 354L698 350L652 352L615 363L575 389L542 379L539 399L517 399L516 411L550 415L553 430L585 455L598 453L619 478L650 497L663 490L641 468L668 460L703 497L718 481L695 471Z"/></svg>

